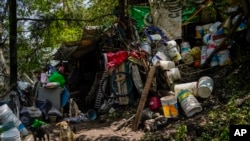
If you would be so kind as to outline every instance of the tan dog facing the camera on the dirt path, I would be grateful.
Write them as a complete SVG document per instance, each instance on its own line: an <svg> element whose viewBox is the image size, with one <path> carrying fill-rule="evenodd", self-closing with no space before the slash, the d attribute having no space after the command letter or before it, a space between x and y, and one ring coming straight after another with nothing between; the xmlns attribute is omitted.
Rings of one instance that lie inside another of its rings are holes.
<svg viewBox="0 0 250 141"><path fill-rule="evenodd" d="M69 125L69 121L61 121L56 124L60 128L60 141L76 141L76 134Z"/></svg>

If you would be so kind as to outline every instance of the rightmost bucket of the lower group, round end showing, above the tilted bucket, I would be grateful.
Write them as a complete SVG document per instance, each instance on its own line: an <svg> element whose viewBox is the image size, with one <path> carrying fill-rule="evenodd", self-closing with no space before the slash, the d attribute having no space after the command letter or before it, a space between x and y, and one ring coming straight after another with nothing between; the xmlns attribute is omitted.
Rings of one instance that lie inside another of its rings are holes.
<svg viewBox="0 0 250 141"><path fill-rule="evenodd" d="M198 96L201 98L208 98L213 91L214 82L209 76L203 76L198 81Z"/></svg>

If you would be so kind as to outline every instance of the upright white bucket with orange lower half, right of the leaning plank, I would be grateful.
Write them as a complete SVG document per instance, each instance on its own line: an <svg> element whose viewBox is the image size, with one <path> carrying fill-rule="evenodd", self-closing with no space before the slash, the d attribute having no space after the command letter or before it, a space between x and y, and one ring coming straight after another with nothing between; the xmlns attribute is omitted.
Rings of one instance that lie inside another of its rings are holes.
<svg viewBox="0 0 250 141"><path fill-rule="evenodd" d="M177 97L174 95L164 96L161 99L162 110L166 118L175 118L179 115Z"/></svg>

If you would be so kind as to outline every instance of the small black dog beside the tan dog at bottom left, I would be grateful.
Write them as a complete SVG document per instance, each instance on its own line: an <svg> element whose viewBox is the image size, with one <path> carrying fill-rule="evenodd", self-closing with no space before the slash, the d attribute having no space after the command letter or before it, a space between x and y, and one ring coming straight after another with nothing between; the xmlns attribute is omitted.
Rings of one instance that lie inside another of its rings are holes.
<svg viewBox="0 0 250 141"><path fill-rule="evenodd" d="M42 125L38 127L30 127L30 131L34 137L34 141L39 139L39 141L46 141L45 137L47 136L47 140L49 141L49 132L50 132L50 125Z"/></svg>

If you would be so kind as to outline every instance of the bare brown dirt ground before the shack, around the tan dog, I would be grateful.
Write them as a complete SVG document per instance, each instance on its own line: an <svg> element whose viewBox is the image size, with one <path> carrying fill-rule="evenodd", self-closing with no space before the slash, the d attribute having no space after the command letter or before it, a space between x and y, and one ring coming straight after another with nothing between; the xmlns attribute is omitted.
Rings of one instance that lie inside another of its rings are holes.
<svg viewBox="0 0 250 141"><path fill-rule="evenodd" d="M113 124L99 120L71 123L76 128L77 141L137 141L144 135L143 131L134 132L127 127L114 131L112 130ZM56 127L55 123L51 126L50 141L59 141L59 128ZM24 141L34 141L34 138L29 134Z"/></svg>

